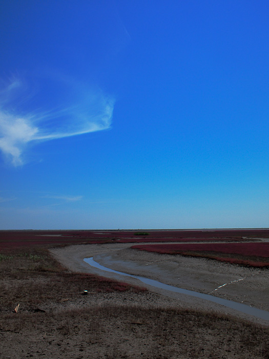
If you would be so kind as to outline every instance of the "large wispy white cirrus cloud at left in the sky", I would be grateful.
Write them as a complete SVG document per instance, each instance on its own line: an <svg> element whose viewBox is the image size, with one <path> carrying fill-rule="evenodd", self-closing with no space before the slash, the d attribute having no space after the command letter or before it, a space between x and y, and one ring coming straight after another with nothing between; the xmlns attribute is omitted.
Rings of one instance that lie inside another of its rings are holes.
<svg viewBox="0 0 269 359"><path fill-rule="evenodd" d="M70 91L68 105L49 110L29 110L35 94L18 79L0 91L0 150L13 166L23 165L25 151L38 142L110 128L114 99L100 89L74 87L76 95L70 101Z"/></svg>

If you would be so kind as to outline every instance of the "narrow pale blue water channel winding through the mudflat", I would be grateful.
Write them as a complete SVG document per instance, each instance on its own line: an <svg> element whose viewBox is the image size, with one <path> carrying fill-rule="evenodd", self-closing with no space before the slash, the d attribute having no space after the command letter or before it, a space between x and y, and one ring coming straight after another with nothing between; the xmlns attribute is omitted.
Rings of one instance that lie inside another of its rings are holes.
<svg viewBox="0 0 269 359"><path fill-rule="evenodd" d="M97 269L101 269L101 270L104 270L106 272L120 274L120 275L123 275L123 276L136 278L139 281L141 281L142 283L150 285L152 287L156 287L156 288L160 288L160 289L164 289L164 290L168 290L168 291L176 292L176 293L180 293L180 294L191 295L191 296L201 298L201 299L204 299L206 301L214 302L214 303L217 303L217 304L221 304L221 305L223 305L225 307L229 307L229 308L238 310L239 312L249 314L249 315L254 315L257 318L261 318L263 320L269 321L269 312L267 312L265 310L253 308L253 307L250 307L250 306L242 304L242 303L236 303L236 302L233 302L233 301L228 301L226 299L222 299L222 298L219 298L219 297L216 297L216 296L213 296L213 295L198 293L198 292L194 292L192 290L181 289L181 288L178 288L178 287L170 286L168 284L164 284L164 283L161 283L161 282L158 282L158 281L154 281L154 280L149 279L149 278L140 277L138 275L132 275L132 274L127 274L127 273L123 273L123 272L118 272L118 271L116 271L114 269L110 269L110 268L101 266L99 263L97 263L97 262L95 262L93 260L93 257L84 258L84 261L86 263L88 263L90 266L95 267Z"/></svg>

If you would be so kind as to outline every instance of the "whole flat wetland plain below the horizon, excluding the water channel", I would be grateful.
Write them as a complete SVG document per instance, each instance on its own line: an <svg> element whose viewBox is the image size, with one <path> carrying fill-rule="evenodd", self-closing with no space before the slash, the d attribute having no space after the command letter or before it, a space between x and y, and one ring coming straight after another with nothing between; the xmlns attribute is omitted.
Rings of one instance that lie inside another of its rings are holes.
<svg viewBox="0 0 269 359"><path fill-rule="evenodd" d="M268 321L83 261L269 311L268 243L268 229L0 231L0 357L269 358Z"/></svg>

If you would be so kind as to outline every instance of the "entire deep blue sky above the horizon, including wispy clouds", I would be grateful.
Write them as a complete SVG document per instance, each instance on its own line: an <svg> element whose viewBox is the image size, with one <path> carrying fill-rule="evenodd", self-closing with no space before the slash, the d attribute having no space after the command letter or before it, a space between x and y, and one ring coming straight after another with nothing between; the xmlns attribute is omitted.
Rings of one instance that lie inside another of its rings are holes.
<svg viewBox="0 0 269 359"><path fill-rule="evenodd" d="M268 227L267 1L3 1L0 229Z"/></svg>

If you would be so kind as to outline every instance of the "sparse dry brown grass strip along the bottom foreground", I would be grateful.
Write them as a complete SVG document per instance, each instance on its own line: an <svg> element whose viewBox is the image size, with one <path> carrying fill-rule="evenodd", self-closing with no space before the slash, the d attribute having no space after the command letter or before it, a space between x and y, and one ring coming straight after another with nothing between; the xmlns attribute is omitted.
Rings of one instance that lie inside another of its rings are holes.
<svg viewBox="0 0 269 359"><path fill-rule="evenodd" d="M4 336L16 334L22 341L34 332L55 357L63 350L83 358L269 357L268 329L197 311L105 305L8 314L1 326ZM35 342L34 351L39 348Z"/></svg>

